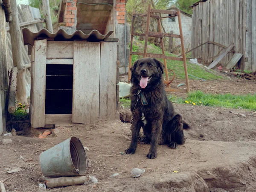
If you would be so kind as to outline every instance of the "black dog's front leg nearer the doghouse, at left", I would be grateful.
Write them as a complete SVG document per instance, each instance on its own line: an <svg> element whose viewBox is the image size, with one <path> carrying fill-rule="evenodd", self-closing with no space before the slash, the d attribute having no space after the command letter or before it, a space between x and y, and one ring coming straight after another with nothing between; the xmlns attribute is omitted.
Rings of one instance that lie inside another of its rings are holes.
<svg viewBox="0 0 256 192"><path fill-rule="evenodd" d="M135 153L141 126L142 126L142 122L140 120L140 113L138 111L135 111L134 117L133 117L133 122L131 124L131 144L125 150L126 154L134 154Z"/></svg>

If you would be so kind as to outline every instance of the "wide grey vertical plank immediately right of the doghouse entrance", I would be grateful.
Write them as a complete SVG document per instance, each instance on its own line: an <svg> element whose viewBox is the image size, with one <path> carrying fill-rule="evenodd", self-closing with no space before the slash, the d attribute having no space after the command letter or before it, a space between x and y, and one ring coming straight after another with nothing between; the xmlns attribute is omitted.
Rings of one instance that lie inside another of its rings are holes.
<svg viewBox="0 0 256 192"><path fill-rule="evenodd" d="M100 43L74 41L73 59L72 122L92 122L99 119Z"/></svg>

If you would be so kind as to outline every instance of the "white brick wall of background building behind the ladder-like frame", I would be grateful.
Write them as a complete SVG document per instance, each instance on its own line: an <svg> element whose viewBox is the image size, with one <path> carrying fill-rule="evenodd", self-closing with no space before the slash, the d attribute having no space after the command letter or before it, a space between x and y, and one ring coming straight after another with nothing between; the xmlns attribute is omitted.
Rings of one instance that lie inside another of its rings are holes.
<svg viewBox="0 0 256 192"><path fill-rule="evenodd" d="M170 11L176 11L175 9ZM167 14L162 14L162 17L167 17ZM183 38L184 38L184 46L185 50L191 48L191 33L192 33L192 18L184 15L180 12L181 17L181 26L182 26L182 32L183 32ZM180 35L180 29L179 29L179 23L178 23L178 17L175 17L175 21L172 21L170 18L165 18L162 20L163 27L166 30L166 33L169 33L170 31L173 31L173 34ZM177 45L180 45L180 39L179 38L173 38L173 47L176 47ZM166 48L168 48L168 44L166 44ZM188 48L189 47L189 48Z"/></svg>

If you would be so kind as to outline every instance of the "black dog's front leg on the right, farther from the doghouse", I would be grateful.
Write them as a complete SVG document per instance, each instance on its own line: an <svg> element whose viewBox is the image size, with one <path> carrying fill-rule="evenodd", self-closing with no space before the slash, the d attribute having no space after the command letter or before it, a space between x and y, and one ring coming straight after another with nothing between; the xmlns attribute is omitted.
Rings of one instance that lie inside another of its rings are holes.
<svg viewBox="0 0 256 192"><path fill-rule="evenodd" d="M151 146L147 154L148 159L157 158L158 137L162 129L162 124L162 120L159 119L152 121Z"/></svg>

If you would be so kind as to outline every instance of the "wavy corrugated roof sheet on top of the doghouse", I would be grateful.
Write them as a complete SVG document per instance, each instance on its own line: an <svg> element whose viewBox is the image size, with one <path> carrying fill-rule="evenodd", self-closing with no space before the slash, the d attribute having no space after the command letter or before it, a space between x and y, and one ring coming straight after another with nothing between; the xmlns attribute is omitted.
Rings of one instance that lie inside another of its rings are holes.
<svg viewBox="0 0 256 192"><path fill-rule="evenodd" d="M93 30L88 35L85 35L82 31L76 30L73 34L67 34L64 29L58 29L55 33L50 33L47 29L41 29L37 33L31 32L28 28L22 29L23 39L25 45L34 45L34 40L39 37L44 38L54 38L56 41L72 41L72 40L84 40L87 41L102 41L108 38L113 31L107 32L107 34L102 35L99 31Z"/></svg>

